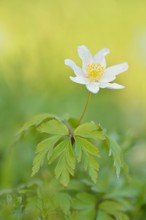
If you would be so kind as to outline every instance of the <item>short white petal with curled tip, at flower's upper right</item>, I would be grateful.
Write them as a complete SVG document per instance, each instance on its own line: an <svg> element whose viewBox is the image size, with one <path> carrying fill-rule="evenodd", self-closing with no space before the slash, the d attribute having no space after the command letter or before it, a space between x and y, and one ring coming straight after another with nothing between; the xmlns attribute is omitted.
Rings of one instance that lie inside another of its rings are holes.
<svg viewBox="0 0 146 220"><path fill-rule="evenodd" d="M96 64L101 64L102 66L106 67L106 60L105 56L110 53L108 48L103 48L99 52L97 52L93 57L93 62Z"/></svg>

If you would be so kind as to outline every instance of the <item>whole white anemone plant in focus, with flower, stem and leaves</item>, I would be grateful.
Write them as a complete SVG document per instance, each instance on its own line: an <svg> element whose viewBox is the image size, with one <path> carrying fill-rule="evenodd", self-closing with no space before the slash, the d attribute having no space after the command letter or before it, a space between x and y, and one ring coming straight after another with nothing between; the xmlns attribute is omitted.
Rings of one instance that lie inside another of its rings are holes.
<svg viewBox="0 0 146 220"><path fill-rule="evenodd" d="M92 93L97 93L99 88L124 88L118 84L111 84L116 75L127 70L128 64L118 64L106 68L105 55L109 49L100 50L94 57L85 46L78 47L78 53L82 59L82 69L76 64L66 59L65 64L70 66L76 77L70 77L77 83L85 84L89 90L89 95L85 107L79 120L63 119L59 117L42 114L36 116L32 121L26 123L19 134L31 127L39 133L47 134L47 137L38 143L36 156L33 161L32 176L35 175L43 165L45 158L48 164L54 167L55 177L60 183L68 186L70 177L75 176L76 170L81 168L86 171L91 180L96 183L100 164L101 142L106 142L109 156L112 156L116 168L117 177L123 167L122 153L119 145L105 134L100 125L94 122L81 124L86 112L87 105ZM79 168L78 168L79 167Z"/></svg>

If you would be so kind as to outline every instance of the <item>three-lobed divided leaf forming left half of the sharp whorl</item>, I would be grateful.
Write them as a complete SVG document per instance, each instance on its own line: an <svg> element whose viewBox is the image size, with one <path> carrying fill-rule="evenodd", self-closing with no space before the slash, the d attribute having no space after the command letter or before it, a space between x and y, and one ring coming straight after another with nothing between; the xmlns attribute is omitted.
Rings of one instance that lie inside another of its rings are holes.
<svg viewBox="0 0 146 220"><path fill-rule="evenodd" d="M67 127L59 120L51 119L41 124L37 130L51 136L40 142L36 148L37 155L33 161L32 175L39 171L47 155L49 164L58 159L55 166L55 176L57 179L60 178L60 182L64 186L67 186L70 175L74 175L75 169L75 157L71 140L67 136L69 133Z"/></svg>

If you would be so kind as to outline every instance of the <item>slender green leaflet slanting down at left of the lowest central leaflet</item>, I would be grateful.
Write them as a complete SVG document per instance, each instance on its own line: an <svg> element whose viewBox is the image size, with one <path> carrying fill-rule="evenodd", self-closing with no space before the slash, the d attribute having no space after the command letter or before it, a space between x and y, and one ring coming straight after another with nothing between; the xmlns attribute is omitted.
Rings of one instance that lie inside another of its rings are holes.
<svg viewBox="0 0 146 220"><path fill-rule="evenodd" d="M52 152L52 148L59 141L60 136L53 136L40 142L36 148L36 157L33 161L32 176L35 175L42 166L46 154Z"/></svg>

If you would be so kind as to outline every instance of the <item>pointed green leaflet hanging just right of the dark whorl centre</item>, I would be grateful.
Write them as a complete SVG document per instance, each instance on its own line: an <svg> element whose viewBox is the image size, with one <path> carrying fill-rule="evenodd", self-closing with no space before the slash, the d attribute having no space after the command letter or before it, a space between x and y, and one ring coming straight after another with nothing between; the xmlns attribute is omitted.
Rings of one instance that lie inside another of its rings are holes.
<svg viewBox="0 0 146 220"><path fill-rule="evenodd" d="M98 148L88 140L81 137L76 137L75 153L78 162L80 162L83 157L84 169L88 170L92 181L96 183L99 170L99 164L97 162L97 158L99 157Z"/></svg>

